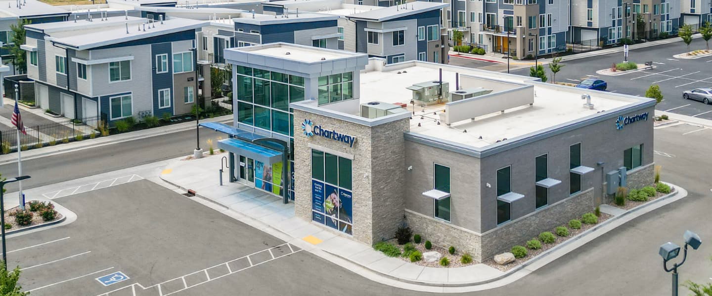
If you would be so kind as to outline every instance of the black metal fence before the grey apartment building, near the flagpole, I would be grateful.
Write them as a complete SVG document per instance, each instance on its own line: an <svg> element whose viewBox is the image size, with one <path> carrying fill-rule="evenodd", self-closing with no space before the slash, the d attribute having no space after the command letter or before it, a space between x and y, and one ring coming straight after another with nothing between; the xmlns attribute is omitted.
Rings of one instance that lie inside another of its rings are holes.
<svg viewBox="0 0 712 296"><path fill-rule="evenodd" d="M100 133L98 128L102 122L106 122L103 121L102 116L95 116L84 119L64 119L38 126L25 126L27 134L20 133L19 146L21 149L27 150L92 138ZM0 144L2 153L16 152L18 147L16 128L0 131Z"/></svg>

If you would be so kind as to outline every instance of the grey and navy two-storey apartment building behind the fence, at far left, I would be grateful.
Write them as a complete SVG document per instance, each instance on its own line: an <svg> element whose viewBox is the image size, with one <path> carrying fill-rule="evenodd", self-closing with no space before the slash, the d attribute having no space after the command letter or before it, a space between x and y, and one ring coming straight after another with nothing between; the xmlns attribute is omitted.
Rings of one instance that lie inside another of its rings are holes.
<svg viewBox="0 0 712 296"><path fill-rule="evenodd" d="M26 26L36 102L70 119L188 114L199 89L195 32L204 21L119 16ZM209 71L206 72L209 75Z"/></svg>

